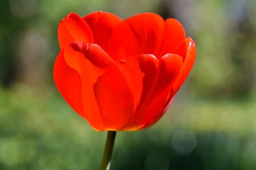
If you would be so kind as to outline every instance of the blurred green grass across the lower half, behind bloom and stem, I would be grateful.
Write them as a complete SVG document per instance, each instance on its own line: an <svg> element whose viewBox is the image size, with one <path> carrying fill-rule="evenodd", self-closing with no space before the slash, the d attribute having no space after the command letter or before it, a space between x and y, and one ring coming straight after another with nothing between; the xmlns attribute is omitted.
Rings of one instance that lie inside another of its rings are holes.
<svg viewBox="0 0 256 170"><path fill-rule="evenodd" d="M0 96L0 169L99 169L106 133L57 91L17 85ZM113 169L256 168L255 101L181 97L152 128L117 134Z"/></svg>

